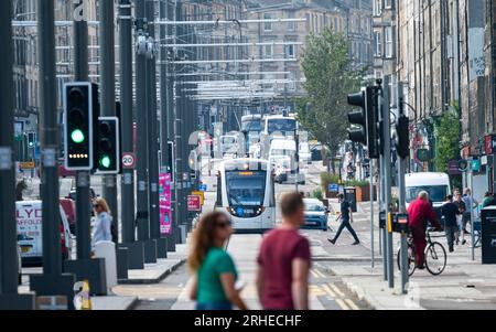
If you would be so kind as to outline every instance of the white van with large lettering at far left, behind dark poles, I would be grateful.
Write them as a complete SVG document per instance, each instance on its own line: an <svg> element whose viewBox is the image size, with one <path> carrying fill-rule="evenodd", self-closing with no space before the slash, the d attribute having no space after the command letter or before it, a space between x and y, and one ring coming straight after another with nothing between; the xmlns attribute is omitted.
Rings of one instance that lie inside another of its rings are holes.
<svg viewBox="0 0 496 332"><path fill-rule="evenodd" d="M63 207L58 206L60 223L63 226L63 232L61 232L61 255L71 257L72 238L69 224ZM15 202L15 216L22 261L25 265L37 265L43 257L42 201Z"/></svg>

